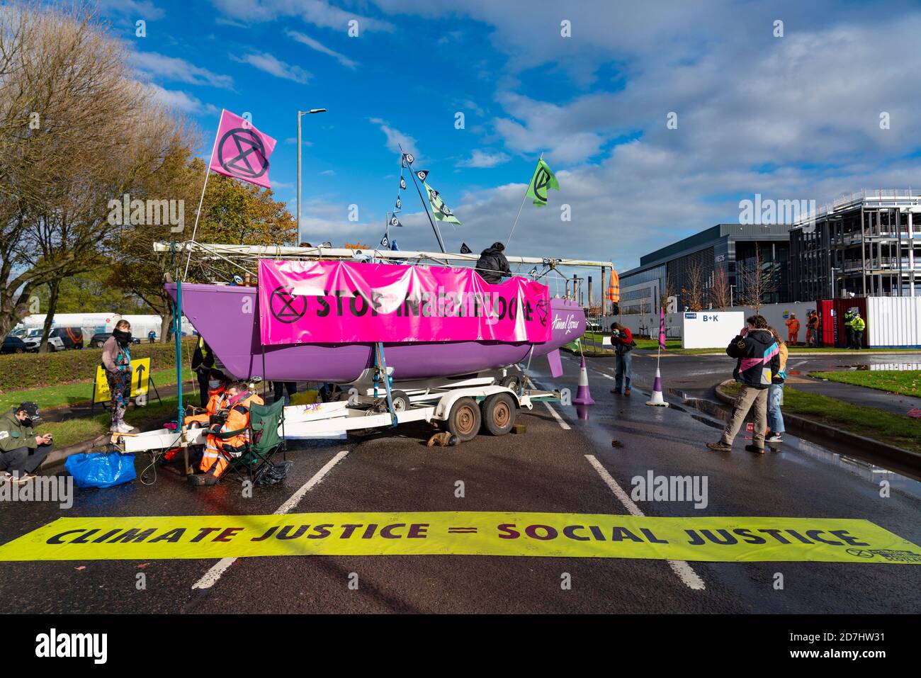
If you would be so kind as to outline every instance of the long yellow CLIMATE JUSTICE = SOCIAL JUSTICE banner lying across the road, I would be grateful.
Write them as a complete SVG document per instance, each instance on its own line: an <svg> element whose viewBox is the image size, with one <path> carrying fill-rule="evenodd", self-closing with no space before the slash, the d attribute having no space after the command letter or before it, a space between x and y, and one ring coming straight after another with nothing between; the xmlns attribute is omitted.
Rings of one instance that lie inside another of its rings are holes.
<svg viewBox="0 0 921 678"><path fill-rule="evenodd" d="M254 555L538 555L714 562L921 563L869 520L515 512L61 518L0 561Z"/></svg>

